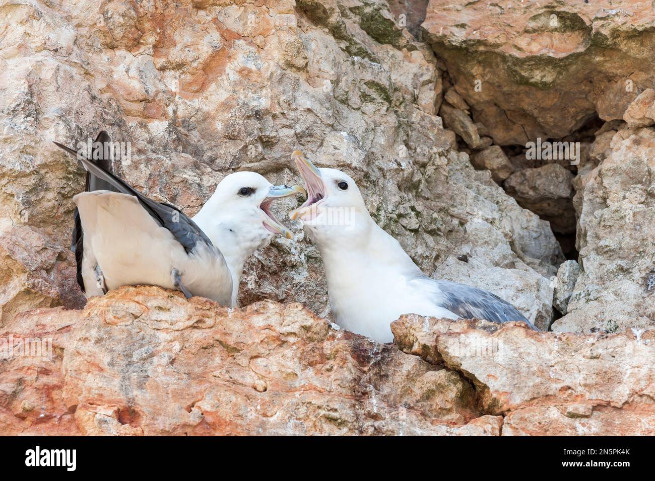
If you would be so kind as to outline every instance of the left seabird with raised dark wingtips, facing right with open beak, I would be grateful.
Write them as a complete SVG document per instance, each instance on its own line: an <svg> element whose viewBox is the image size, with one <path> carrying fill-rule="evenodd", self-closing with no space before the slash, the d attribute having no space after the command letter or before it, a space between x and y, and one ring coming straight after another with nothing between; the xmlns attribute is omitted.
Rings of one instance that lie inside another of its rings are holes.
<svg viewBox="0 0 655 481"><path fill-rule="evenodd" d="M189 219L117 177L107 158L109 142L101 132L89 158L55 142L87 170L86 192L73 197L72 247L84 294L147 284L234 306L246 259L275 234L292 237L272 215L271 202L305 189L273 186L255 172L232 173Z"/></svg>

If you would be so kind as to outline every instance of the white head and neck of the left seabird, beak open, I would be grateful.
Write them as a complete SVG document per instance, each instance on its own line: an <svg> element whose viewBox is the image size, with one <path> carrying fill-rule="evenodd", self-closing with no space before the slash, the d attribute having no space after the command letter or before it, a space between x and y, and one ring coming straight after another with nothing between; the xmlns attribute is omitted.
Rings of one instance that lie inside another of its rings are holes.
<svg viewBox="0 0 655 481"><path fill-rule="evenodd" d="M275 199L306 194L299 185L272 185L255 172L235 172L223 179L210 200L193 218L223 253L238 289L243 264L259 247L274 236L293 237L291 231L271 212Z"/></svg>

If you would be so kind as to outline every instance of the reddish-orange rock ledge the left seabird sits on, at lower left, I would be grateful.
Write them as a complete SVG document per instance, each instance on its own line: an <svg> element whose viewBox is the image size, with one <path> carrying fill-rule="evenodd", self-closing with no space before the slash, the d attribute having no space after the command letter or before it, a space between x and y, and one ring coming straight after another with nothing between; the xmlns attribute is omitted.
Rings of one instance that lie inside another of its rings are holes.
<svg viewBox="0 0 655 481"><path fill-rule="evenodd" d="M5 435L499 435L456 372L299 304L229 310L124 287L83 311L20 315L3 339L51 357L3 366Z"/></svg>

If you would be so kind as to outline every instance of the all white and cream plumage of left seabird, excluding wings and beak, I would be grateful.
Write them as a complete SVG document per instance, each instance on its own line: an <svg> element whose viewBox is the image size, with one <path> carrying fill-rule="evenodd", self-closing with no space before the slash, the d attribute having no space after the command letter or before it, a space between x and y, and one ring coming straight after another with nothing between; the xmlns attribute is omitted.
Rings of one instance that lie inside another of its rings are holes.
<svg viewBox="0 0 655 481"><path fill-rule="evenodd" d="M239 196L242 187L253 194ZM86 296L102 295L96 283L100 266L107 289L122 285L159 285L175 289L172 269L193 295L234 306L244 262L271 241L266 213L260 208L272 184L254 172L237 172L219 183L193 218L214 247L197 243L187 253L171 232L160 226L127 194L96 190L73 198L84 232L82 277Z"/></svg>

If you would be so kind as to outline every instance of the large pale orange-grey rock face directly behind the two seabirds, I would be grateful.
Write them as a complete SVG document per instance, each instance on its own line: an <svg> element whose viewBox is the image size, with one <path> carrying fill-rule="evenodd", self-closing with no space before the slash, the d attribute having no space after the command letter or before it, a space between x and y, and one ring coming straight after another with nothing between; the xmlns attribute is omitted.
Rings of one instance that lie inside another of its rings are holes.
<svg viewBox="0 0 655 481"><path fill-rule="evenodd" d="M563 260L550 226L455 150L436 115L438 60L384 1L12 0L0 10L0 322L83 304L68 251L83 168L51 141L107 129L131 146L116 171L189 214L235 170L299 181L290 152L301 149L350 173L427 274L550 323L549 277ZM296 201L286 202L280 211ZM329 312L320 256L298 227L297 242L275 240L248 262L242 305Z"/></svg>

